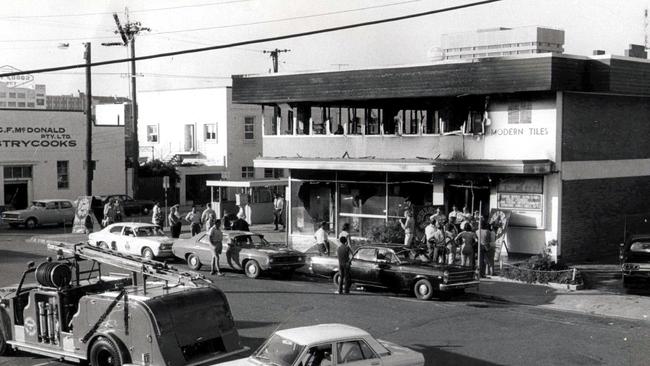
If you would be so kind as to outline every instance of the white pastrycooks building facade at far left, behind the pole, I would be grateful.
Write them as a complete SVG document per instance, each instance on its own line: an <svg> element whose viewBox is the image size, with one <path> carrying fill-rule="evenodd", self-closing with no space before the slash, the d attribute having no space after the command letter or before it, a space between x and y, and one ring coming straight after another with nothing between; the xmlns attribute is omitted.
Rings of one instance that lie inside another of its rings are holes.
<svg viewBox="0 0 650 366"><path fill-rule="evenodd" d="M82 112L0 109L0 206L86 194ZM125 191L124 127L93 127L93 194Z"/></svg>

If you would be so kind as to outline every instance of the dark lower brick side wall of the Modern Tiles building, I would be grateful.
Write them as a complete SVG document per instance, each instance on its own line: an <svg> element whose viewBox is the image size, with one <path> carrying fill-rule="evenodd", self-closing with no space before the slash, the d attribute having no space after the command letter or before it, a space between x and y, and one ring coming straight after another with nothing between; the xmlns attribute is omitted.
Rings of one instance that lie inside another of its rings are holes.
<svg viewBox="0 0 650 366"><path fill-rule="evenodd" d="M562 258L615 261L625 215L650 212L650 176L562 182Z"/></svg>

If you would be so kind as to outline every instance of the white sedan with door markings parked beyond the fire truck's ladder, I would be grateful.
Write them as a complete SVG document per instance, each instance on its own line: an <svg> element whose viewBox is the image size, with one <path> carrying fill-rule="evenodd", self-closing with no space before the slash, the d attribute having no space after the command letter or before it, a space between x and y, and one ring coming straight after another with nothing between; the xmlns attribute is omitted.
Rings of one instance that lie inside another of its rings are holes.
<svg viewBox="0 0 650 366"><path fill-rule="evenodd" d="M146 259L173 257L173 240L153 224L119 222L88 235L88 243Z"/></svg>

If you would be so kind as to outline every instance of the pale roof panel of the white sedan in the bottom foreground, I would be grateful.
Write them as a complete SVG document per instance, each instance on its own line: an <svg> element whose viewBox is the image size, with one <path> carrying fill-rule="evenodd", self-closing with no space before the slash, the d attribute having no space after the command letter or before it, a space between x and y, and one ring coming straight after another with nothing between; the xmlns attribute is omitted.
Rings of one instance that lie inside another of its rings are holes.
<svg viewBox="0 0 650 366"><path fill-rule="evenodd" d="M346 324L310 325L306 327L283 329L275 333L302 345L370 336L370 334L365 330Z"/></svg>

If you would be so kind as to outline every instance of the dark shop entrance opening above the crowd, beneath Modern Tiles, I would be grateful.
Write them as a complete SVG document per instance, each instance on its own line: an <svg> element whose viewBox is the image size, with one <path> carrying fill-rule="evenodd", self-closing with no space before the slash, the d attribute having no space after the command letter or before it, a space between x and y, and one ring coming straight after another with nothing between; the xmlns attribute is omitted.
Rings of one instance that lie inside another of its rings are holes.
<svg viewBox="0 0 650 366"><path fill-rule="evenodd" d="M474 213L481 207L481 216L487 217L490 213L490 187L487 184L472 181L447 181L445 184L445 209L450 212L452 206L459 211L467 207Z"/></svg>

